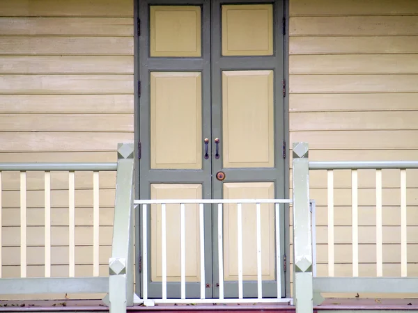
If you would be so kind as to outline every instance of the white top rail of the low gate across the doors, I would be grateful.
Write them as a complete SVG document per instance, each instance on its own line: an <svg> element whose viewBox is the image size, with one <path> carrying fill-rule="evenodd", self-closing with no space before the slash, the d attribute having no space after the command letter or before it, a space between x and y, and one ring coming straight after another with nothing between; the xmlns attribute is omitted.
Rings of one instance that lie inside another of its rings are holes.
<svg viewBox="0 0 418 313"><path fill-rule="evenodd" d="M134 200L134 204L237 204L237 203L292 203L291 199L167 199Z"/></svg>

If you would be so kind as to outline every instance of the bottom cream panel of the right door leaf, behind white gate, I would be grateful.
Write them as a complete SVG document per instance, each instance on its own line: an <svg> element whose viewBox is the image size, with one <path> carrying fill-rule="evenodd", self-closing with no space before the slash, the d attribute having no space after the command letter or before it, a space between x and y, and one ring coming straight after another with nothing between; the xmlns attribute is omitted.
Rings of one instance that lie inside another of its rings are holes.
<svg viewBox="0 0 418 313"><path fill-rule="evenodd" d="M225 199L274 199L273 182L225 183ZM257 280L256 204L242 204L243 280ZM224 279L238 280L237 205L224 204ZM261 204L261 272L274 280L274 204Z"/></svg>

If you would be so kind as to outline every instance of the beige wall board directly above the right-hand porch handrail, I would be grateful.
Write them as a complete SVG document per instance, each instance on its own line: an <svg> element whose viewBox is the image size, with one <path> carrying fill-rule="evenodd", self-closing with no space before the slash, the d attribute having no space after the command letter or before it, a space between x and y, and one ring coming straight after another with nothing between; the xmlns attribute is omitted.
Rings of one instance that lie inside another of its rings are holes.
<svg viewBox="0 0 418 313"><path fill-rule="evenodd" d="M0 154L1 157L1 154ZM289 153L290 165L292 167L292 152ZM311 161L417 161L417 150L315 150L309 149L309 160ZM362 170L363 171L363 170ZM409 170L408 170L409 171ZM415 170L414 170L415 171ZM312 172L312 171L311 171ZM407 179L408 175L407 175Z"/></svg>

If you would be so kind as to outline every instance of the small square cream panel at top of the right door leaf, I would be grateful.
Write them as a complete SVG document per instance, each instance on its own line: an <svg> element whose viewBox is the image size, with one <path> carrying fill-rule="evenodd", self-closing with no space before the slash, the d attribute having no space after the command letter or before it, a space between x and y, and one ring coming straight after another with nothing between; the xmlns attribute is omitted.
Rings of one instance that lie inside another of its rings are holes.
<svg viewBox="0 0 418 313"><path fill-rule="evenodd" d="M273 54L272 4L222 6L222 55Z"/></svg>

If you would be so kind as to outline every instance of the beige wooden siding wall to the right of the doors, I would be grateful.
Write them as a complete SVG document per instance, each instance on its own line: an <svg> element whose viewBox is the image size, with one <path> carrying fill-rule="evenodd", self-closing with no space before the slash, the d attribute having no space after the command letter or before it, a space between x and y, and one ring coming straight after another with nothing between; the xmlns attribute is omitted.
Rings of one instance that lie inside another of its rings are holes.
<svg viewBox="0 0 418 313"><path fill-rule="evenodd" d="M316 161L418 160L418 1L290 0L290 15L291 142L309 142ZM410 276L418 275L417 174L408 170ZM383 275L400 277L399 171L382 176ZM334 275L351 276L350 171L334 172L334 186ZM359 171L360 276L376 276L375 186L374 170ZM326 171L311 171L318 276L328 275L326 187Z"/></svg>

